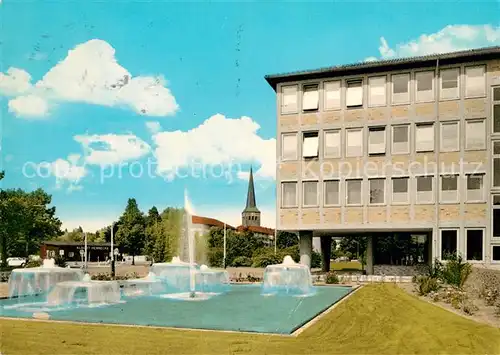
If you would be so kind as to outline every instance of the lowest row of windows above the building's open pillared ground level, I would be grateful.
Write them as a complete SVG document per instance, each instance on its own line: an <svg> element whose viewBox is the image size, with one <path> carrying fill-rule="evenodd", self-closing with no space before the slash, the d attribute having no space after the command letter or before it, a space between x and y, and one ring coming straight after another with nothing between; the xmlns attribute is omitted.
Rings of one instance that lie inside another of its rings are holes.
<svg viewBox="0 0 500 355"><path fill-rule="evenodd" d="M393 177L390 179L390 202L392 204L410 203L410 180L414 180L413 196L415 203L429 204L435 202L434 176ZM368 183L367 202L370 205L385 205L386 178L327 180L323 181L323 205L328 206L356 206L365 201L363 184ZM460 196L465 196L465 202L484 202L484 174L468 174L465 176L465 194L460 193L460 175L442 175L439 184L439 201L442 203L459 203ZM298 183L281 183L281 207L297 207ZM341 202L341 184L344 184L345 203ZM302 182L302 207L318 207L320 197L320 183L318 181Z"/></svg>

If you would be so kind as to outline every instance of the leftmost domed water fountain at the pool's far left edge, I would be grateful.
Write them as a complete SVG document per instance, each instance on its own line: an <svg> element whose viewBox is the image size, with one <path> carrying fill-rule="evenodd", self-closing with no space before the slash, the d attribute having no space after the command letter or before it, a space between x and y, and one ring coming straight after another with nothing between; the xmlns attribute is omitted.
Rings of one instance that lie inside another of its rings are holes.
<svg viewBox="0 0 500 355"><path fill-rule="evenodd" d="M81 270L58 267L54 259L44 259L40 267L12 270L9 297L46 294L59 282L79 281L82 278Z"/></svg>

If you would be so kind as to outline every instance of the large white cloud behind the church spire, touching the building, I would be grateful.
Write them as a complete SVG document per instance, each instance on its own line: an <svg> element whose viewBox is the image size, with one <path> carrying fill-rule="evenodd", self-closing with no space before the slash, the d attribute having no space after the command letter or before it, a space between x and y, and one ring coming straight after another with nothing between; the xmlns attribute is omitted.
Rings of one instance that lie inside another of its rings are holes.
<svg viewBox="0 0 500 355"><path fill-rule="evenodd" d="M257 163L256 178L275 178L276 139L263 139L259 129L250 117L216 114L189 131L159 132L153 135L157 172L170 176L195 163L212 167Z"/></svg>

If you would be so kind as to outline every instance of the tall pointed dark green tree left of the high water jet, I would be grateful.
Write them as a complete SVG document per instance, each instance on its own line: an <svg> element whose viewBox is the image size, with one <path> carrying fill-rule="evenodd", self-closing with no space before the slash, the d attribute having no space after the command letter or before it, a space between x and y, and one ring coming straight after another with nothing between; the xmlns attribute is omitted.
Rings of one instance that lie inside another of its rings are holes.
<svg viewBox="0 0 500 355"><path fill-rule="evenodd" d="M116 239L117 244L132 255L132 265L135 265L135 256L144 247L145 220L134 198L128 200L125 212L120 217Z"/></svg>

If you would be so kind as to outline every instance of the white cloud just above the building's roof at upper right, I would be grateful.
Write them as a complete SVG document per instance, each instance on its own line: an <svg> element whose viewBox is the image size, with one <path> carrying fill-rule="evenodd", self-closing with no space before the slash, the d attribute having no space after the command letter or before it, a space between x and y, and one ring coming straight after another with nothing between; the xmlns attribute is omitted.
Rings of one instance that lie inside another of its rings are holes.
<svg viewBox="0 0 500 355"><path fill-rule="evenodd" d="M382 59L390 59L497 45L500 45L500 26L448 25L436 33L422 34L417 39L400 43L393 48L381 37L379 52Z"/></svg>

